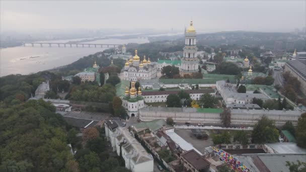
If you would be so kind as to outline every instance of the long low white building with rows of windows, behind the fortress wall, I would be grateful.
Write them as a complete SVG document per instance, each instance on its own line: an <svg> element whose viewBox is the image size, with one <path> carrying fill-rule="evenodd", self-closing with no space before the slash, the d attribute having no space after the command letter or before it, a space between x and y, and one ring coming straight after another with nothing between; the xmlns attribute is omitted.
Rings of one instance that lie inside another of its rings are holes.
<svg viewBox="0 0 306 172"><path fill-rule="evenodd" d="M203 94L209 94L211 96L215 96L216 90L214 89L204 89L204 90L184 90L186 93L190 95L192 100L200 100ZM167 97L170 94L177 95L180 90L176 91L148 91L142 92L142 97L144 98L145 103L152 102L166 102Z"/></svg>

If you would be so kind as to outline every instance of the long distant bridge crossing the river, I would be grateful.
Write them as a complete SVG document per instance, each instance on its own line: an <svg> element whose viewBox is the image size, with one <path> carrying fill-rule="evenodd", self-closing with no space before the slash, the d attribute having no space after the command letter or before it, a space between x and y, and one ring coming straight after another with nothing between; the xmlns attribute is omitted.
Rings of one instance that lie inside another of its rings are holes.
<svg viewBox="0 0 306 172"><path fill-rule="evenodd" d="M120 44L87 44L87 43L55 43L55 42L25 42L23 43L23 46L25 47L26 45L40 45L40 47L43 47L43 45L49 45L49 47L52 47L52 45L57 45L57 47L66 47L70 46L72 47L116 47L119 46Z"/></svg>

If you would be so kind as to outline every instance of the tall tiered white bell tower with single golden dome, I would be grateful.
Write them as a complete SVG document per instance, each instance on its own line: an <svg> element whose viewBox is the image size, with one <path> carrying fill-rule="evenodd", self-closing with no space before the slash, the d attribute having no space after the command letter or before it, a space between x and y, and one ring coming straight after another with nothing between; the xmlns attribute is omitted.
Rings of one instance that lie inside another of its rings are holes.
<svg viewBox="0 0 306 172"><path fill-rule="evenodd" d="M185 47L183 50L180 74L183 76L184 74L198 72L199 59L196 56L198 48L196 46L196 32L192 21L185 32Z"/></svg>

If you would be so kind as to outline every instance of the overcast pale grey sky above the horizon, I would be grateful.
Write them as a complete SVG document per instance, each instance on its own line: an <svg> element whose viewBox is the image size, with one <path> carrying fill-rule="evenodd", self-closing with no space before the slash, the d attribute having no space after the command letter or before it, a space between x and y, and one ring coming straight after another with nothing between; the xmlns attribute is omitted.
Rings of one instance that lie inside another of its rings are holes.
<svg viewBox="0 0 306 172"><path fill-rule="evenodd" d="M66 28L290 32L306 23L305 1L0 1L4 30Z"/></svg>

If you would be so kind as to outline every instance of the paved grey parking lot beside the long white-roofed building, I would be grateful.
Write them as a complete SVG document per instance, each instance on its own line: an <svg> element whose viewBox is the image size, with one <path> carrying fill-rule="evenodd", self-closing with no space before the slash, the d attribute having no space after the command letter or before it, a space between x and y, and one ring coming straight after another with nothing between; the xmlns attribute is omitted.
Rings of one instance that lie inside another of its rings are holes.
<svg viewBox="0 0 306 172"><path fill-rule="evenodd" d="M205 131L206 134L210 135L210 132L208 130L202 131ZM181 136L183 139L185 139L188 143L192 144L201 153L204 153L205 147L213 145L211 136L208 136L207 139L197 139L191 133L191 129L175 129L174 132Z"/></svg>

